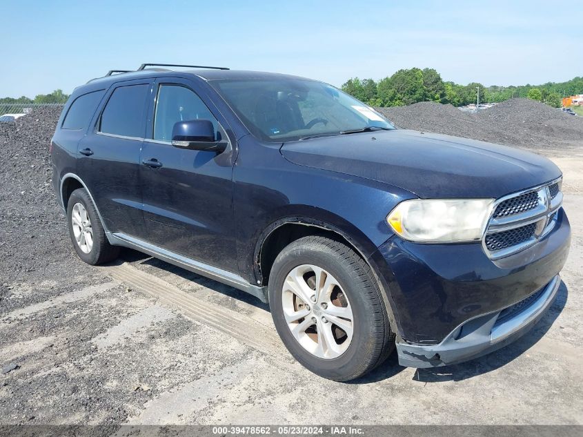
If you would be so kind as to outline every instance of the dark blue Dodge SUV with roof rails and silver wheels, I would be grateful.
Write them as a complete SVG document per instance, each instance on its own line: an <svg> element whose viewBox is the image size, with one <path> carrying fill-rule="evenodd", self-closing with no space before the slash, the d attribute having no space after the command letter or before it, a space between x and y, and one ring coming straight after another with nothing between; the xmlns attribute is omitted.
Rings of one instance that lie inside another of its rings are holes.
<svg viewBox="0 0 583 437"><path fill-rule="evenodd" d="M395 344L405 366L475 358L552 304L570 227L549 160L396 129L319 81L161 65L89 81L59 120L83 261L126 246L247 291L333 380Z"/></svg>

